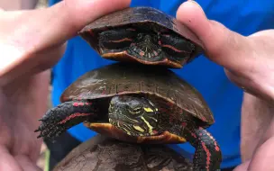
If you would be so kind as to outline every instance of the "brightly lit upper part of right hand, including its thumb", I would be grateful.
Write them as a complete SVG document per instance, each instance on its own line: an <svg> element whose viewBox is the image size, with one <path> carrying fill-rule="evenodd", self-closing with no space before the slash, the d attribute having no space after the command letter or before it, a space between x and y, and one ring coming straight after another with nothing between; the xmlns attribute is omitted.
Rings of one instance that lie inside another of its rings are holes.
<svg viewBox="0 0 274 171"><path fill-rule="evenodd" d="M205 56L223 66L234 84L274 103L274 30L244 37L208 20L191 0L178 8L177 17L202 41Z"/></svg>

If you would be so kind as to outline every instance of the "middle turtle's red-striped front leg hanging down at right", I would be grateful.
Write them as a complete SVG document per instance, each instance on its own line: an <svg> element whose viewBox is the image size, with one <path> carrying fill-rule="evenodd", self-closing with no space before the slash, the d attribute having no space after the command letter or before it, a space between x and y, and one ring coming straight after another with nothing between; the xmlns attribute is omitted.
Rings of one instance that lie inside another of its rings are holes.
<svg viewBox="0 0 274 171"><path fill-rule="evenodd" d="M213 136L203 128L187 129L184 135L196 148L193 158L194 171L220 171L222 152Z"/></svg>

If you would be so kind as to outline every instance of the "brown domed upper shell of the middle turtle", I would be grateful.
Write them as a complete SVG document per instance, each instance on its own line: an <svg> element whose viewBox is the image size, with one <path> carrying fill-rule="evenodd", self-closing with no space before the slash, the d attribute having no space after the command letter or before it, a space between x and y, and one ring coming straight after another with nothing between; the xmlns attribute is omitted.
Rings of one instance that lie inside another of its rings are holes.
<svg viewBox="0 0 274 171"><path fill-rule="evenodd" d="M193 86L168 68L142 64L115 63L87 72L68 86L60 100L97 99L116 94L152 94L175 103L202 121L209 124L215 121L204 98Z"/></svg>

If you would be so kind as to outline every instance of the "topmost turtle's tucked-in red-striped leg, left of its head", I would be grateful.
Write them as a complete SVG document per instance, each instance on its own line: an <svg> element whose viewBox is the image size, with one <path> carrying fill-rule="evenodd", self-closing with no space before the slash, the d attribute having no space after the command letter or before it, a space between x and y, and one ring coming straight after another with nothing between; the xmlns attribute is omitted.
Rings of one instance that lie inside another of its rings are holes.
<svg viewBox="0 0 274 171"><path fill-rule="evenodd" d="M135 37L133 29L116 29L99 34L99 44L105 49L123 49L129 47Z"/></svg>

